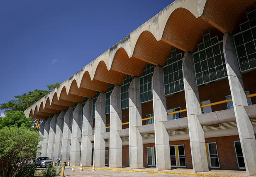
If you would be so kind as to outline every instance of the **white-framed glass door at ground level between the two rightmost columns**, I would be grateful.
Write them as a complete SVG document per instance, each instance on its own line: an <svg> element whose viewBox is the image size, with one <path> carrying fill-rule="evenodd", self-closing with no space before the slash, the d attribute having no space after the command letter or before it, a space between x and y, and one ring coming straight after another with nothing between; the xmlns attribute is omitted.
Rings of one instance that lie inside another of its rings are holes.
<svg viewBox="0 0 256 177"><path fill-rule="evenodd" d="M219 156L216 143L207 143L208 144L208 154L210 161L210 168L219 168Z"/></svg>

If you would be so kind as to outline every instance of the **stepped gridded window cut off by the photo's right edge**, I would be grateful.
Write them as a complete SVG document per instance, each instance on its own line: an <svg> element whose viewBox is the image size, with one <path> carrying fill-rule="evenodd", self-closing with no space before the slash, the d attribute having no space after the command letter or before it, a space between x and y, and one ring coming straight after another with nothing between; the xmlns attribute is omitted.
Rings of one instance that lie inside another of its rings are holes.
<svg viewBox="0 0 256 177"><path fill-rule="evenodd" d="M248 21L233 35L240 71L256 68L256 10L247 13Z"/></svg>

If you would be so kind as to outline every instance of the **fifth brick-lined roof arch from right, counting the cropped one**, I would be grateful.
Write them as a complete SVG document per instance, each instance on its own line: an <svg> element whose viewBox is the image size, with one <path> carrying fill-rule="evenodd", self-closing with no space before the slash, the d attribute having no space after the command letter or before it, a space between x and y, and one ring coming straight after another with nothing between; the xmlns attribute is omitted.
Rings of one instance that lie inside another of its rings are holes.
<svg viewBox="0 0 256 177"><path fill-rule="evenodd" d="M100 80L110 84L122 85L126 74L114 70L107 71L107 66L104 61L98 64L93 80Z"/></svg>

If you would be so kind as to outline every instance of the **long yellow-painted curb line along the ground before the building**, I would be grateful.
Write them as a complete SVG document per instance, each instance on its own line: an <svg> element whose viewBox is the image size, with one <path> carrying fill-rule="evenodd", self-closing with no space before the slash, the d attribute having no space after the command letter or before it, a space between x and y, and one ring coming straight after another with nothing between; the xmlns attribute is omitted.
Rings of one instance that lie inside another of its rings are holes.
<svg viewBox="0 0 256 177"><path fill-rule="evenodd" d="M75 167L80 168L80 167ZM85 170L91 170L90 167L83 167ZM144 172L144 173L160 173L169 175L186 175L186 176L201 176L201 177L245 177L245 176L233 176L233 175L215 175L215 174L203 174L203 173L186 173L186 172L165 172L165 171L147 171L147 170L119 170L113 168L95 168L95 170L102 171L119 171L119 172Z"/></svg>

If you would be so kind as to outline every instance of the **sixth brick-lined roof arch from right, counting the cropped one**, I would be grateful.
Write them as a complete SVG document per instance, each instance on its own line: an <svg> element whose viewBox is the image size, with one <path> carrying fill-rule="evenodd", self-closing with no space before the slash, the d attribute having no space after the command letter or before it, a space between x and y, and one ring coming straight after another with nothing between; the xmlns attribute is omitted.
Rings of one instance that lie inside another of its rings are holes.
<svg viewBox="0 0 256 177"><path fill-rule="evenodd" d="M107 88L109 87L109 85L110 84L99 81L99 80L91 80L90 74L88 71L85 71L80 83L80 87L90 89L90 90L95 90L98 92L107 92Z"/></svg>

